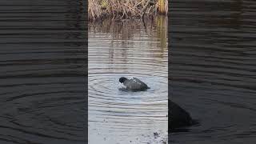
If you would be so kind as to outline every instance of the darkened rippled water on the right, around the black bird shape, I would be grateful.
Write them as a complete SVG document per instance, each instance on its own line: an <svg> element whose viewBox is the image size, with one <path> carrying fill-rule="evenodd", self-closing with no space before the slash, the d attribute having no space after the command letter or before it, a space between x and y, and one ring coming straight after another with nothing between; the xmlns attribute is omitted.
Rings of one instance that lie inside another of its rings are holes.
<svg viewBox="0 0 256 144"><path fill-rule="evenodd" d="M200 121L171 143L256 142L256 2L170 2L170 93Z"/></svg>

